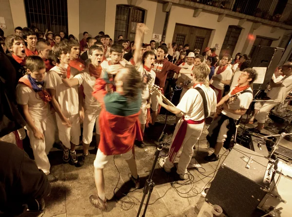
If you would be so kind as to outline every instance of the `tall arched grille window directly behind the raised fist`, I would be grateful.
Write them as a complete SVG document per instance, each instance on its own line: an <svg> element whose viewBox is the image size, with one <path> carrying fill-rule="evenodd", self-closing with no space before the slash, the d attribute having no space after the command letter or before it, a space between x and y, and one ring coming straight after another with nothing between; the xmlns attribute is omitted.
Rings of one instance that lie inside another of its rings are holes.
<svg viewBox="0 0 292 217"><path fill-rule="evenodd" d="M114 27L114 39L118 36L133 41L135 39L137 23L144 23L145 10L130 7L128 5L117 5Z"/></svg>

